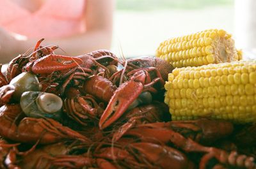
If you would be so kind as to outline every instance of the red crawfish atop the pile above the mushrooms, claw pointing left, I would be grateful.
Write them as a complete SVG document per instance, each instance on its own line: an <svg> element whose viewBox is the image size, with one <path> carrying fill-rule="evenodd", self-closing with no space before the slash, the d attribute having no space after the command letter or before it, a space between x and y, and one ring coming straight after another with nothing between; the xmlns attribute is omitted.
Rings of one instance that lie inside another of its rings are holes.
<svg viewBox="0 0 256 169"><path fill-rule="evenodd" d="M60 92L60 95L63 95L68 85L77 87L83 84L86 78L91 75L97 75L102 69L108 71L108 68L101 64L101 62L103 62L102 59L108 59L110 63L112 63L113 60L115 60L113 61L114 63L118 60L117 57L108 50L100 51L104 51L109 55L102 55L101 57L96 55L94 57L92 54L85 54L70 57L50 54L36 59L33 62L29 62L25 69L26 71L32 71L40 75L40 82L44 82L44 86L54 84L53 87L60 88L58 92ZM95 53L98 52L95 51ZM106 61L104 61L104 64L105 63ZM51 89L51 87L49 87L49 89ZM46 88L45 91L49 89Z"/></svg>

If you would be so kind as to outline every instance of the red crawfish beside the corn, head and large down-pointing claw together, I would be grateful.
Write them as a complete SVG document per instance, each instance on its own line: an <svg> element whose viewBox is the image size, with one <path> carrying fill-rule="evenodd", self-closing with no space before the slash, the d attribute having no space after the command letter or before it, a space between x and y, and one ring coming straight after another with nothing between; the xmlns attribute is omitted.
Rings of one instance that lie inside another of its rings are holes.
<svg viewBox="0 0 256 169"><path fill-rule="evenodd" d="M170 73L173 70L168 62L157 57L131 59L127 62L129 72L126 75L129 80L121 84L111 97L100 118L99 126L101 129L107 128L121 117L142 92L156 93L163 90L164 80L168 78L168 72ZM134 65L134 62L138 62L137 66ZM140 66L144 68L140 68ZM130 68L133 68L133 70L130 70ZM118 73L114 73L115 75L118 75Z"/></svg>

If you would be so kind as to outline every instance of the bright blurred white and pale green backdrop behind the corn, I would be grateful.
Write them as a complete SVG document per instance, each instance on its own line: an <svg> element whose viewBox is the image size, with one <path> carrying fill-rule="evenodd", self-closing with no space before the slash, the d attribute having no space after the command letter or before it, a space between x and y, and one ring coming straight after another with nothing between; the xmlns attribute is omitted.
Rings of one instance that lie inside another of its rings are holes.
<svg viewBox="0 0 256 169"><path fill-rule="evenodd" d="M256 45L253 6L255 0L116 0L112 50L125 57L154 55L168 38L224 29L250 53Z"/></svg>

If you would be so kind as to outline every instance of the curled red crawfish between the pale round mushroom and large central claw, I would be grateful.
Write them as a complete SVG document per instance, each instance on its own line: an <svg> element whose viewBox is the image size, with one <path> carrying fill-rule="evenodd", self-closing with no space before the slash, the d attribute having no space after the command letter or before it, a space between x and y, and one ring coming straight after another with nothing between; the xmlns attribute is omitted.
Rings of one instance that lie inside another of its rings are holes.
<svg viewBox="0 0 256 169"><path fill-rule="evenodd" d="M66 90L64 112L84 126L90 121L99 122L104 105L108 103L115 90L115 85L107 78L98 75L88 77L82 87L69 87Z"/></svg>

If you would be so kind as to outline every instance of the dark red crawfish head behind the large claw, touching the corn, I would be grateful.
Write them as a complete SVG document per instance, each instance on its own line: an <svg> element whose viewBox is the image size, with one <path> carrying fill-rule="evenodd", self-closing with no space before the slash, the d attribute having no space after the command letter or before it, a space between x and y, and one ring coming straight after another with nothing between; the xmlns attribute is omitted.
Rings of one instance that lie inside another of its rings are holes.
<svg viewBox="0 0 256 169"><path fill-rule="evenodd" d="M129 68L149 68L155 67L162 75L164 81L167 81L168 73L174 69L171 64L160 59L159 57L144 56L138 58L131 58L127 60Z"/></svg>

